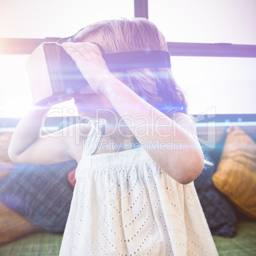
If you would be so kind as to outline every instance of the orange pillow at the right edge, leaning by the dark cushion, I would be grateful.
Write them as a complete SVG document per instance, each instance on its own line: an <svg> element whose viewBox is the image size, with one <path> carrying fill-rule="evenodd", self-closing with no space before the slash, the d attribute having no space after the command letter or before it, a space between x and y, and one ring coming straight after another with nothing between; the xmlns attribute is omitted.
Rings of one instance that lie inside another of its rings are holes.
<svg viewBox="0 0 256 256"><path fill-rule="evenodd" d="M227 134L213 183L239 210L256 220L256 144L239 127L231 127Z"/></svg>

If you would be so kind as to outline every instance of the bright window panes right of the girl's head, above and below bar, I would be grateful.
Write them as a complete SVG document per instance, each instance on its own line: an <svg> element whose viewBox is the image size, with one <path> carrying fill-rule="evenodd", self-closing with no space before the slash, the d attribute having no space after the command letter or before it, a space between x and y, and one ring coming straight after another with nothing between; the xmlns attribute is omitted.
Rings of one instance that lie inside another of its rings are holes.
<svg viewBox="0 0 256 256"><path fill-rule="evenodd" d="M148 0L148 17L169 42L256 45L254 0ZM171 57L190 113L256 113L256 59Z"/></svg>

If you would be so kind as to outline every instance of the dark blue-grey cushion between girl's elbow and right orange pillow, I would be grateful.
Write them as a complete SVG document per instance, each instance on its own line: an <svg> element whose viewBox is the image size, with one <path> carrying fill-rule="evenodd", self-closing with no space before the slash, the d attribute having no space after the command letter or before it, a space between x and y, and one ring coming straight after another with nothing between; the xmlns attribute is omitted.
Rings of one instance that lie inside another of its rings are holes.
<svg viewBox="0 0 256 256"><path fill-rule="evenodd" d="M213 162L204 148L203 152L204 158ZM231 238L236 232L236 212L227 197L213 185L212 176L216 169L216 164L205 164L194 184L211 234Z"/></svg>

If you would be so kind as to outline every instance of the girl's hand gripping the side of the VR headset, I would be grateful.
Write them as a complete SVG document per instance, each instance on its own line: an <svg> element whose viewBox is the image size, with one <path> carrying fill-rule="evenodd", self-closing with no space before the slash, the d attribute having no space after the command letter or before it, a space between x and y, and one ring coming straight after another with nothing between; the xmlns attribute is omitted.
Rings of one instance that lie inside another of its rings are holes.
<svg viewBox="0 0 256 256"><path fill-rule="evenodd" d="M94 43L63 43L62 47L76 62L85 80L89 83L93 92L104 94L104 83L112 79L113 75L108 70L106 62L101 55L99 47ZM92 93L86 87L81 93Z"/></svg>

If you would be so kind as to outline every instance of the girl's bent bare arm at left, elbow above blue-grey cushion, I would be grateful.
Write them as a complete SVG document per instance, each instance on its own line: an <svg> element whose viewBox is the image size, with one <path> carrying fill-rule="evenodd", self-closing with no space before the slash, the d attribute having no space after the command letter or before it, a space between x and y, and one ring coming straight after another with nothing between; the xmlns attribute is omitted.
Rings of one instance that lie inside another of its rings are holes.
<svg viewBox="0 0 256 256"><path fill-rule="evenodd" d="M68 134L64 130L52 133L50 136L41 136L41 124L45 121L47 113L46 109L33 108L20 120L8 149L13 162L53 164L74 158L71 145L75 143L75 136L62 136Z"/></svg>

